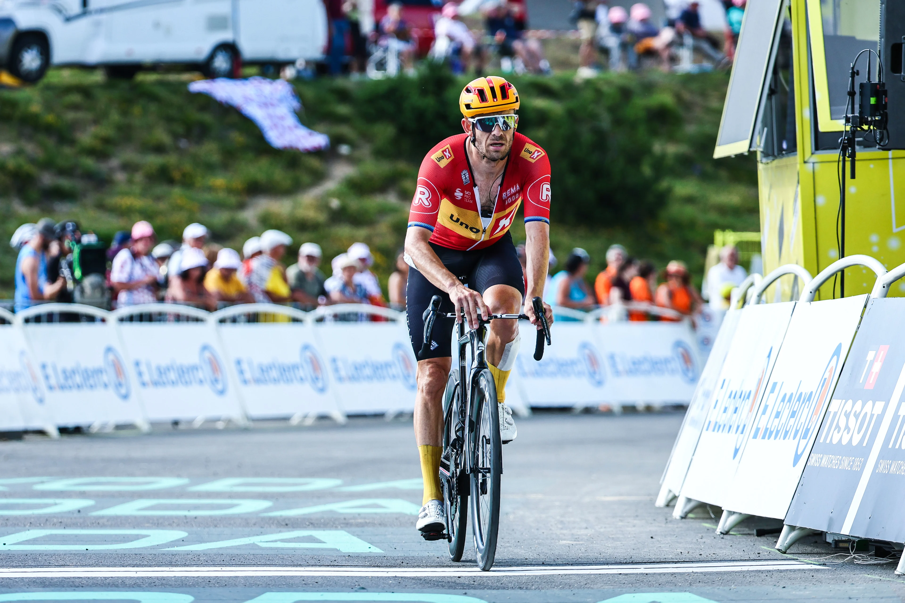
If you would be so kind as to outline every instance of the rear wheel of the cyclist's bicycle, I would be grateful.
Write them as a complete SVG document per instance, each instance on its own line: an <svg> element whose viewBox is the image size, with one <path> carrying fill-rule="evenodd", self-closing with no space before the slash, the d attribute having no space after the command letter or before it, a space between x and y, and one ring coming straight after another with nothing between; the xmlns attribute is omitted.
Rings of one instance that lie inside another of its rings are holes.
<svg viewBox="0 0 905 603"><path fill-rule="evenodd" d="M462 438L456 435L461 408L461 385L458 369L452 369L443 392L443 457L440 460L440 484L443 485L443 511L446 512L446 533L449 534L450 559L462 561L465 551L465 530L468 527L468 482L462 467Z"/></svg>

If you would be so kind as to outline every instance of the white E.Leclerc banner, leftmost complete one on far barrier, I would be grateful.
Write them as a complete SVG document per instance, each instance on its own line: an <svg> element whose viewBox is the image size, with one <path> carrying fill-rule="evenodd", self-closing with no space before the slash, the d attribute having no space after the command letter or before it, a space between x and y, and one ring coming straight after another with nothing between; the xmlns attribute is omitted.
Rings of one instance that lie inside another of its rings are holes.
<svg viewBox="0 0 905 603"><path fill-rule="evenodd" d="M21 326L46 408L59 427L145 423L125 355L111 323ZM178 341L178 340L176 340Z"/></svg>

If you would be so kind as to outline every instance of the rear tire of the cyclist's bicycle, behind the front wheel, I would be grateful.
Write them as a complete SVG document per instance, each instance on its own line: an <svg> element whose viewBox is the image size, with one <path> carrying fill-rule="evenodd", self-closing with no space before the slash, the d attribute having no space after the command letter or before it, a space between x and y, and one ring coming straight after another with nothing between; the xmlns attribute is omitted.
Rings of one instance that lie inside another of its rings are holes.
<svg viewBox="0 0 905 603"><path fill-rule="evenodd" d="M459 371L452 369L446 380L446 390L443 391L443 457L447 457L450 442L455 437L455 420L459 414ZM462 457L459 462L461 463ZM452 488L452 479L460 475L462 466L454 467L449 463L449 476L443 475L440 470L440 483L443 485L443 511L446 514L446 533L449 534L449 550L451 561L462 561L462 553L465 551L465 531L468 528L468 490L462 487L462 483ZM441 467L443 461L441 462ZM452 493L455 492L456 495ZM466 494L462 494L465 492Z"/></svg>

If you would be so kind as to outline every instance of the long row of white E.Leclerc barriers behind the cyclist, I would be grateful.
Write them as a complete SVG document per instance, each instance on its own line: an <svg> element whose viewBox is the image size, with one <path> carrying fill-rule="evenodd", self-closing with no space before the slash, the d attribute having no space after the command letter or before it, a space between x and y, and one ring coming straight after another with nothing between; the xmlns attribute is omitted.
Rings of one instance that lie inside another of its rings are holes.
<svg viewBox="0 0 905 603"><path fill-rule="evenodd" d="M662 308L629 307L675 317ZM702 367L691 321L626 322L557 308L553 345L523 349L507 401L530 406L684 404ZM624 313L623 313L624 314ZM351 320L349 320L351 319ZM712 317L709 319L712 320ZM0 430L318 417L414 410L405 314L342 305L250 304L208 313L149 304L108 312L46 304L0 313Z"/></svg>

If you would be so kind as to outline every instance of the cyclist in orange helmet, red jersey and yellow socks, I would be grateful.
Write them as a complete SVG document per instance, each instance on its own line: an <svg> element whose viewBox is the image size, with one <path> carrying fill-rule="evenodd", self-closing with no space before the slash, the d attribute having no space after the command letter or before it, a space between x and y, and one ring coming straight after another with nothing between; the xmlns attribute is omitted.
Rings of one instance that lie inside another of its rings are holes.
<svg viewBox="0 0 905 603"><path fill-rule="evenodd" d="M418 362L414 433L421 457L424 500L416 527L443 532L439 467L443 453L443 389L452 362L453 320L464 311L475 328L478 315L534 315L531 299L543 295L549 256L550 162L547 153L516 133L519 92L499 76L473 80L459 96L464 134L449 137L424 157L405 234L406 317L415 354L424 340L424 310L443 298L431 351ZM524 205L526 279L510 226ZM463 283L467 283L465 287ZM527 283L527 291L526 291ZM544 306L548 322L553 316ZM504 404L506 380L519 352L519 326L495 320L487 338L487 363L500 402L500 436L516 438L512 412Z"/></svg>

